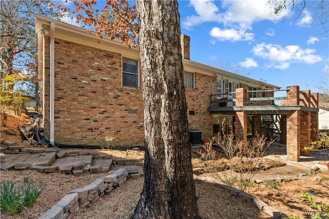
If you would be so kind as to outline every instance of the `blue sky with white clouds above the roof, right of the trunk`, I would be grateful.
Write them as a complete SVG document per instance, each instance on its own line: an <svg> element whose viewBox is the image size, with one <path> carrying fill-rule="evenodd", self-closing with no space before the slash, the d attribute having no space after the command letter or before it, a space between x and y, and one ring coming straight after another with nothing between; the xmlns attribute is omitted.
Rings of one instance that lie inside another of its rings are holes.
<svg viewBox="0 0 329 219"><path fill-rule="evenodd" d="M191 38L190 59L282 89L298 85L321 92L318 85L329 81L329 32L316 24L311 27L312 10L304 10L298 18L288 14L289 9L273 15L266 3L178 1L181 33Z"/></svg>

